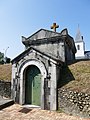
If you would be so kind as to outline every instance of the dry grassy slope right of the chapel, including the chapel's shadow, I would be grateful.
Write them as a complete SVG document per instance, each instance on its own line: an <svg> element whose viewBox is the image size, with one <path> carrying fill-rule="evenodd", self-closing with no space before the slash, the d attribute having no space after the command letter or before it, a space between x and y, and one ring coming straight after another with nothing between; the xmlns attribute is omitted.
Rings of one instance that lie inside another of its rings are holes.
<svg viewBox="0 0 90 120"><path fill-rule="evenodd" d="M64 67L59 86L90 94L90 60Z"/></svg>

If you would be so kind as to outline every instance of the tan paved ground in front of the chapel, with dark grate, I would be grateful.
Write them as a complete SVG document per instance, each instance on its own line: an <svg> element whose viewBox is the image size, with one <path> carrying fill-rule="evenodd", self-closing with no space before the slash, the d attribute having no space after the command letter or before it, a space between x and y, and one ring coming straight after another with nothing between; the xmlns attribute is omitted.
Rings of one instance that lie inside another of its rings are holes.
<svg viewBox="0 0 90 120"><path fill-rule="evenodd" d="M0 111L0 120L90 120L69 116L64 113L40 109L23 108L14 104Z"/></svg>

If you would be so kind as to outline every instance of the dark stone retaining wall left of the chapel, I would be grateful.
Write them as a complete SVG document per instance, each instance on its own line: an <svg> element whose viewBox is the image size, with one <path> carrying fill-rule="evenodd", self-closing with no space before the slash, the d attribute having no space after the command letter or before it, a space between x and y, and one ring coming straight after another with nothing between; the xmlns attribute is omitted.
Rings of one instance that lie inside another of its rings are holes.
<svg viewBox="0 0 90 120"><path fill-rule="evenodd" d="M0 80L0 95L7 98L11 97L11 82Z"/></svg>

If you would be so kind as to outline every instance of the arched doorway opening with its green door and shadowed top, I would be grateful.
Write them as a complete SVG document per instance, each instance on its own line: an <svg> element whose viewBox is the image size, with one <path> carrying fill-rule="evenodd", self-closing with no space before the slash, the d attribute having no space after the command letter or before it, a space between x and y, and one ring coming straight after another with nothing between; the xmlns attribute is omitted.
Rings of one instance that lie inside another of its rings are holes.
<svg viewBox="0 0 90 120"><path fill-rule="evenodd" d="M34 65L26 70L25 104L41 105L41 73Z"/></svg>

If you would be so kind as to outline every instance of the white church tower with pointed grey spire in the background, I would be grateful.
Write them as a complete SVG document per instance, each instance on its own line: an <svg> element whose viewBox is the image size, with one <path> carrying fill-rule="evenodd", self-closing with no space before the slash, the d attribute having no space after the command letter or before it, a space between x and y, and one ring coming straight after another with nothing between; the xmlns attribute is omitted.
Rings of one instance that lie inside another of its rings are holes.
<svg viewBox="0 0 90 120"><path fill-rule="evenodd" d="M83 41L83 36L81 36L80 29L78 27L76 38L75 38L75 46L76 46L76 59L84 58L84 52L85 52L85 43Z"/></svg>

